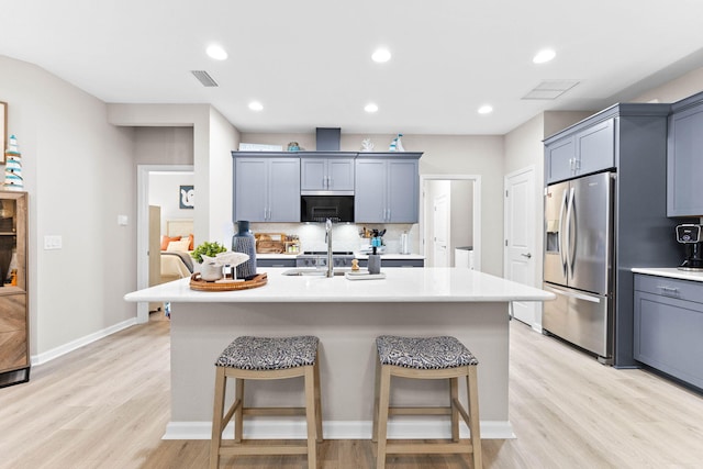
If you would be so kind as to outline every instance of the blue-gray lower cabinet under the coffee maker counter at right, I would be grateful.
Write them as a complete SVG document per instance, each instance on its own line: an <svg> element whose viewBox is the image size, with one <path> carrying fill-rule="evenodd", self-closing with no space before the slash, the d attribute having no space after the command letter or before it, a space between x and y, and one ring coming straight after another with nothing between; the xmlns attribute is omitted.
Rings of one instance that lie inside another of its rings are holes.
<svg viewBox="0 0 703 469"><path fill-rule="evenodd" d="M703 283L635 273L634 358L703 389Z"/></svg>

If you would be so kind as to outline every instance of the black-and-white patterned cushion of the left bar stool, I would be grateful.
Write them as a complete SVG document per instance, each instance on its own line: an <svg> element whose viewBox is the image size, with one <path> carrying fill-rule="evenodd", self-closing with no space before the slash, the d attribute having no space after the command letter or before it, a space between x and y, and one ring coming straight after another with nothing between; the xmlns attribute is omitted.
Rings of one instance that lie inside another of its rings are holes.
<svg viewBox="0 0 703 469"><path fill-rule="evenodd" d="M235 338L215 361L217 367L242 370L281 370L314 365L320 339L311 335L294 337Z"/></svg>

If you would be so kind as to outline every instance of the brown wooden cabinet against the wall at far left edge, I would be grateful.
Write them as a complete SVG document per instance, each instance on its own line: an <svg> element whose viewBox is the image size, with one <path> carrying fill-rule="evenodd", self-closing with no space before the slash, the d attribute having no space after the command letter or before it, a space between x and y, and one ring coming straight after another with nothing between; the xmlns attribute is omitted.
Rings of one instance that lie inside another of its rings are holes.
<svg viewBox="0 0 703 469"><path fill-rule="evenodd" d="M0 191L0 388L30 379L26 199Z"/></svg>

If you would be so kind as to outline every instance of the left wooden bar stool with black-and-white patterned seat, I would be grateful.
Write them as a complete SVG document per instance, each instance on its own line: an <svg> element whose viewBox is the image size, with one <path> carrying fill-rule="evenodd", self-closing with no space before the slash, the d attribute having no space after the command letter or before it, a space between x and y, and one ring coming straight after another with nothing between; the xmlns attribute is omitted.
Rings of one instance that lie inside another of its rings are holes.
<svg viewBox="0 0 703 469"><path fill-rule="evenodd" d="M308 468L317 465L316 444L322 442L320 366L314 336L252 337L232 342L215 361L215 398L210 444L210 468L220 465L223 455L308 455ZM274 380L303 377L304 407L247 407L244 382L247 379ZM224 398L227 378L235 378L235 399L226 414ZM244 415L305 415L308 440L303 445L242 445ZM234 417L234 445L222 444L222 432Z"/></svg>

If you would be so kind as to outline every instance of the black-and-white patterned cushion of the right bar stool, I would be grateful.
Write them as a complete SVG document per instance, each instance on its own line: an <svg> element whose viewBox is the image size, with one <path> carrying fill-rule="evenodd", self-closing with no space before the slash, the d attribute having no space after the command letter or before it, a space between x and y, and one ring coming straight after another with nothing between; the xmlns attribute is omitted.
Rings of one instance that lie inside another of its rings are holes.
<svg viewBox="0 0 703 469"><path fill-rule="evenodd" d="M399 337L382 335L376 338L381 365L415 369L444 369L478 365L479 360L456 337Z"/></svg>

